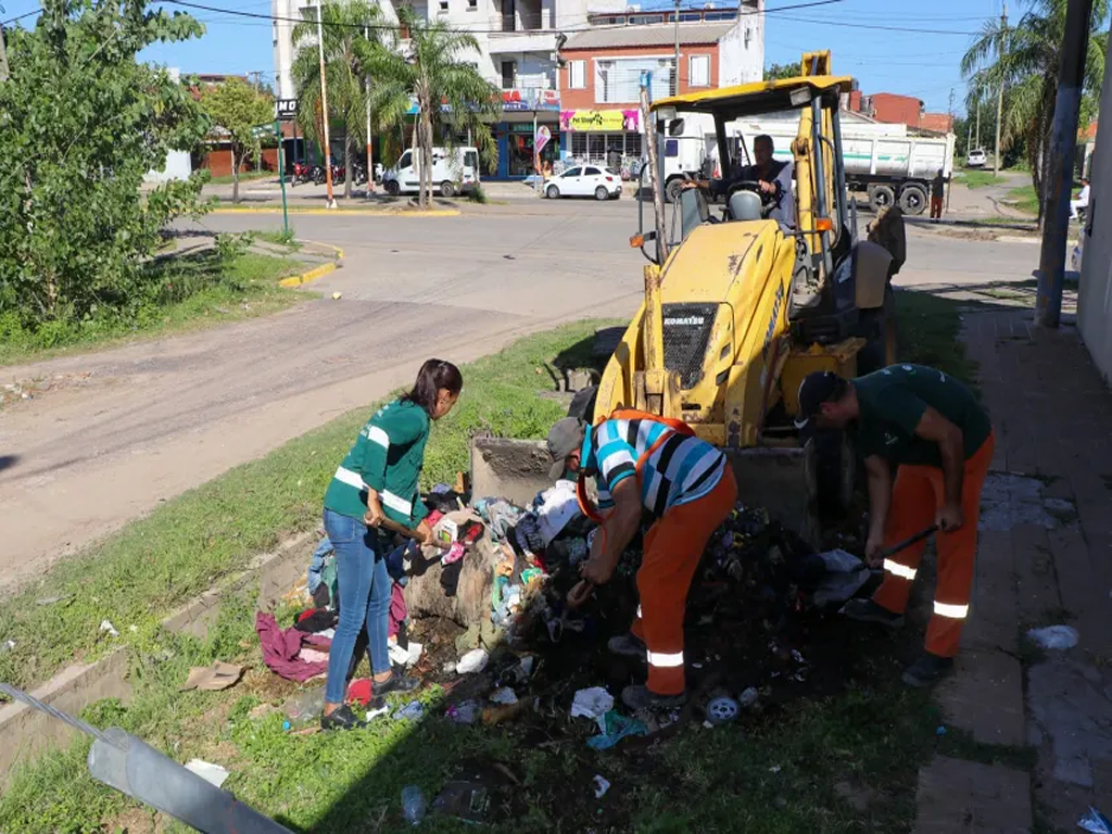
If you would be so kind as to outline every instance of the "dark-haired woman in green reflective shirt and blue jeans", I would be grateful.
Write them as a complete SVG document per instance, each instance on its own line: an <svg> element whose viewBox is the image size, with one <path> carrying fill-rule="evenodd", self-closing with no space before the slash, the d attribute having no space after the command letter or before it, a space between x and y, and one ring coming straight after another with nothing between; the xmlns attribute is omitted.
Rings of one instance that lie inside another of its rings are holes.
<svg viewBox="0 0 1112 834"><path fill-rule="evenodd" d="M353 729L365 722L344 703L347 673L359 631L367 629L375 695L409 692L410 677L390 667L387 628L390 577L384 518L414 528L420 540L433 540L428 510L418 490L425 444L434 420L459 398L464 378L451 363L429 359L413 390L380 408L359 431L325 493L325 530L336 552L339 623L328 655L328 683L320 724L325 729Z"/></svg>

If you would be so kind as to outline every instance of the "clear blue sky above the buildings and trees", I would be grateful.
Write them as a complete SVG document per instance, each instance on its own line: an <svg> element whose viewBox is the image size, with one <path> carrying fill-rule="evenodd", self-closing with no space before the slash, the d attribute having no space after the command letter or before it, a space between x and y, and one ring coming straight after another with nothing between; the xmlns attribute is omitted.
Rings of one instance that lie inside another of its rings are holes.
<svg viewBox="0 0 1112 834"><path fill-rule="evenodd" d="M237 11L270 12L270 0L199 1ZM954 110L961 113L965 92L961 57L973 39L972 33L989 17L1000 14L1001 0L932 0L922 3L911 0L838 0L825 7L775 11L803 2L807 0L767 0L771 13L766 17L765 28L766 63L794 62L804 50L828 48L834 53L835 72L857 77L865 93L916 96L926 103L927 110L946 111L953 90ZM4 20L38 8L36 0L0 0L0 3L4 8ZM683 0L683 4L694 6L695 2ZM647 6L644 3L644 7ZM1019 0L1019 3L1013 0L1009 13L1014 18L1025 6L1026 0ZM272 80L274 57L268 21L209 11L193 13L208 29L203 38L188 43L156 44L143 53L143 58L177 67L183 72L261 71L265 79ZM32 20L24 22L31 23ZM917 31L860 28L863 26Z"/></svg>

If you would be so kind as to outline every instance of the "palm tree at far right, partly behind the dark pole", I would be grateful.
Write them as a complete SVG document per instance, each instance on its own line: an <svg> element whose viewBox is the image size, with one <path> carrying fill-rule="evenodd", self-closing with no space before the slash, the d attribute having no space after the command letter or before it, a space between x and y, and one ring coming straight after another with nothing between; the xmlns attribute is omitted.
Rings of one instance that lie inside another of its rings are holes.
<svg viewBox="0 0 1112 834"><path fill-rule="evenodd" d="M962 72L970 81L971 107L979 100L995 100L1000 85L1004 85L1001 131L1009 141L1025 142L1031 182L1039 195L1040 226L1050 176L1051 128L1068 4L1068 0L1031 0L1031 8L1015 27L1005 30L1000 21L986 22L962 58ZM1108 12L1109 0L1095 0L1085 56L1085 89L1090 93L1100 89L1104 78L1108 34L1103 21Z"/></svg>

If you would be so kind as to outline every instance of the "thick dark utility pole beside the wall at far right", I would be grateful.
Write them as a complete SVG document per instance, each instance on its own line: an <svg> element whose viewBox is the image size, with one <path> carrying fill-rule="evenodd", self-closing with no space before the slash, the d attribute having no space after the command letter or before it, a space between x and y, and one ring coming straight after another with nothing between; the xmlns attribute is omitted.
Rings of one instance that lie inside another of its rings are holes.
<svg viewBox="0 0 1112 834"><path fill-rule="evenodd" d="M1065 280L1065 244L1070 234L1070 196L1073 163L1078 152L1078 117L1089 52L1089 27L1093 0L1070 0L1065 11L1065 33L1059 52L1058 102L1050 139L1050 177L1043 210L1042 258L1039 262L1039 296L1035 322L1058 327L1062 318L1062 284Z"/></svg>

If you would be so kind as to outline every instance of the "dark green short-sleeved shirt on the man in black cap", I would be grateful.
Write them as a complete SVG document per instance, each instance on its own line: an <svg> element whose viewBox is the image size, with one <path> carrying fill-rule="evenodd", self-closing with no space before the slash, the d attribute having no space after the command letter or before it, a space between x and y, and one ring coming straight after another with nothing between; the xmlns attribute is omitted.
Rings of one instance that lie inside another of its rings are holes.
<svg viewBox="0 0 1112 834"><path fill-rule="evenodd" d="M989 415L973 393L935 368L892 365L852 381L861 408L855 440L863 457L880 455L895 464L941 467L939 445L915 434L927 406L962 430L966 460L992 431Z"/></svg>

